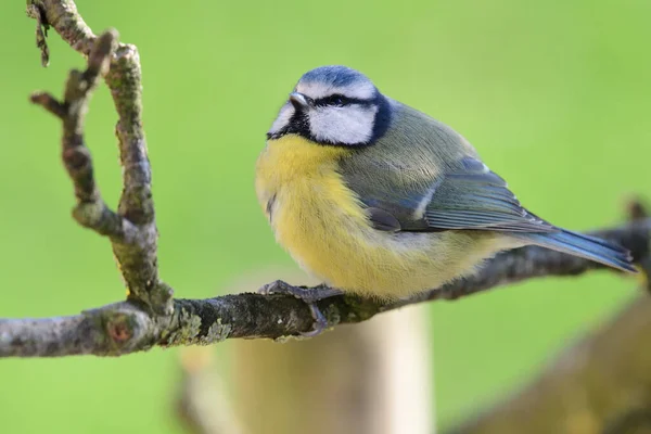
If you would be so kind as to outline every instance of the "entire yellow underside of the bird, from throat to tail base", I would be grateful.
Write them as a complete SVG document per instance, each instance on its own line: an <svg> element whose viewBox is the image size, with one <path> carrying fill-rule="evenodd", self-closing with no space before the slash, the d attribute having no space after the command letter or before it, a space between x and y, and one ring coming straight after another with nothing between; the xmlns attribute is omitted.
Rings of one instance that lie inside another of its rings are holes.
<svg viewBox="0 0 651 434"><path fill-rule="evenodd" d="M278 151L268 146L258 161L260 204L278 242L302 268L333 288L385 299L405 297L468 275L500 250L493 232L379 231L334 161L324 158L302 175L280 175L290 166L291 153L286 148ZM264 167L270 164L273 176ZM298 170L296 165L293 170Z"/></svg>

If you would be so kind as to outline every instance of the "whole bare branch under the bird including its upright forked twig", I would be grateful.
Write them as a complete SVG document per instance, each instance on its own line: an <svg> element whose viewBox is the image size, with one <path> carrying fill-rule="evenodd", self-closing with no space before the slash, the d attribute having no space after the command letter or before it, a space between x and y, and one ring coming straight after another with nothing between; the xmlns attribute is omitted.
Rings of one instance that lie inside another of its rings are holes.
<svg viewBox="0 0 651 434"><path fill-rule="evenodd" d="M36 93L31 100L62 120L62 156L77 199L73 216L80 225L110 239L130 294L126 302L72 317L0 319L0 357L118 356L153 346L205 345L227 337L284 339L311 330L309 308L286 295L245 293L173 301L171 288L158 278L157 230L141 122L141 74L136 47L117 43L114 30L95 37L71 0L30 0L28 15L37 20L39 30L51 26L88 56L85 72L71 73L63 102L48 93ZM43 38L40 35L37 31L38 47L47 50L44 34ZM116 131L124 168L117 213L101 199L84 141L90 94L104 73L118 114ZM651 220L643 219L593 234L629 248L639 261L649 257L650 231ZM574 276L597 268L603 267L529 246L496 256L476 276L410 299L384 304L348 295L323 299L318 306L333 327L365 321L413 303L456 299L524 279Z"/></svg>

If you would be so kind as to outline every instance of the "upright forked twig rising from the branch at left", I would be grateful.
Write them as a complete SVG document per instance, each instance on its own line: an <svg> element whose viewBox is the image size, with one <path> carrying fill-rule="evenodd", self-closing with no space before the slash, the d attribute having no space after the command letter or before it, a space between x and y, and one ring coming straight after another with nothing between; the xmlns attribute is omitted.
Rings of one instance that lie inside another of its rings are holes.
<svg viewBox="0 0 651 434"><path fill-rule="evenodd" d="M88 56L84 73L71 73L62 103L47 93L31 98L63 120L63 161L77 196L73 216L80 225L111 239L129 299L143 302L158 315L170 315L173 291L158 278L158 232L142 129L138 50L131 44L117 43L114 30L95 37L71 0L31 0L28 15L37 18L39 25L48 23L75 50ZM116 133L124 188L117 213L104 204L94 184L90 152L82 136L88 99L103 73L119 117Z"/></svg>

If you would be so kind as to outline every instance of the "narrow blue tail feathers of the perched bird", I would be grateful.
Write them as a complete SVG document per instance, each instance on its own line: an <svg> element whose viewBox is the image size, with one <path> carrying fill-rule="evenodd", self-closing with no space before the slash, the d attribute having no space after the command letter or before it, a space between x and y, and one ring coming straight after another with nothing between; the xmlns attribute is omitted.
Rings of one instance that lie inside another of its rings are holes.
<svg viewBox="0 0 651 434"><path fill-rule="evenodd" d="M561 229L551 233L527 233L526 240L532 244L590 259L622 271L637 272L631 263L630 252L595 237Z"/></svg>

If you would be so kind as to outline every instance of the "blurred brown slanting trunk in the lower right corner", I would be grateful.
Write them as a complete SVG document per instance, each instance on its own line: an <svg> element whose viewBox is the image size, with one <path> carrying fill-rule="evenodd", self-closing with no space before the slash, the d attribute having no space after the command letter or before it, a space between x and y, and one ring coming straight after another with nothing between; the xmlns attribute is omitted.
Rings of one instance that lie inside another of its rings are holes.
<svg viewBox="0 0 651 434"><path fill-rule="evenodd" d="M522 392L454 432L651 434L651 298L635 298Z"/></svg>

